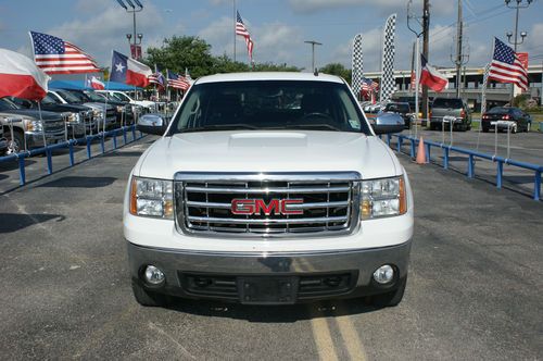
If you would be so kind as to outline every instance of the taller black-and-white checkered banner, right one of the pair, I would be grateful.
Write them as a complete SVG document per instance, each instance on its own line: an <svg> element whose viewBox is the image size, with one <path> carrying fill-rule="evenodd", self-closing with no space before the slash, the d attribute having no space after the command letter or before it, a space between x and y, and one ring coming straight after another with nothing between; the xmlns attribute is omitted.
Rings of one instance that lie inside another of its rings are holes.
<svg viewBox="0 0 543 361"><path fill-rule="evenodd" d="M394 94L394 34L396 32L396 14L387 18L384 25L384 43L382 46L382 76L379 100L387 101Z"/></svg>

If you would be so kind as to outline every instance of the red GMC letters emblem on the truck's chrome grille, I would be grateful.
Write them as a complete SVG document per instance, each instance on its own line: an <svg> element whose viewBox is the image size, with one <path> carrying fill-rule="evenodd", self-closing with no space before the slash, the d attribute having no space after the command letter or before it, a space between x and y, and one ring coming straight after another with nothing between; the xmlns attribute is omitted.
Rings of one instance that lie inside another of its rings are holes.
<svg viewBox="0 0 543 361"><path fill-rule="evenodd" d="M232 199L231 211L233 214L303 214L301 209L291 209L291 204L302 204L303 199L272 199L266 204L264 199Z"/></svg>

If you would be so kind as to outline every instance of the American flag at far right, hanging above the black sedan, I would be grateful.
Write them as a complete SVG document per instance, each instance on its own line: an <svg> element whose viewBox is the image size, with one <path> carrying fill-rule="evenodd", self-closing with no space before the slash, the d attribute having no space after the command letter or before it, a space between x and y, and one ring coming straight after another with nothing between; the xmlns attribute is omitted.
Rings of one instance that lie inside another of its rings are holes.
<svg viewBox="0 0 543 361"><path fill-rule="evenodd" d="M494 54L490 63L489 78L500 83L513 83L528 90L528 71L517 53L497 38L494 38Z"/></svg>

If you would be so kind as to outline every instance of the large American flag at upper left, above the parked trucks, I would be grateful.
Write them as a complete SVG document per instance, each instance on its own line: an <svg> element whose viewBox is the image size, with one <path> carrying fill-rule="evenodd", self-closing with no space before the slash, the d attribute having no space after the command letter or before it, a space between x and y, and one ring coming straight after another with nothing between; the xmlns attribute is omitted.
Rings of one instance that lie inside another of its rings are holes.
<svg viewBox="0 0 543 361"><path fill-rule="evenodd" d="M73 43L61 38L30 32L34 61L47 74L100 72L97 62Z"/></svg>

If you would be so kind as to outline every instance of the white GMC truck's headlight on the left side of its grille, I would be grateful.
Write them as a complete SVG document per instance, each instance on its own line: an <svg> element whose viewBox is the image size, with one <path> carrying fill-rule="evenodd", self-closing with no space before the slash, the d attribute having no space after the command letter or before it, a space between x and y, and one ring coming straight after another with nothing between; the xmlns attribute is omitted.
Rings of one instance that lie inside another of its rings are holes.
<svg viewBox="0 0 543 361"><path fill-rule="evenodd" d="M130 213L173 220L173 182L132 177L130 183Z"/></svg>

